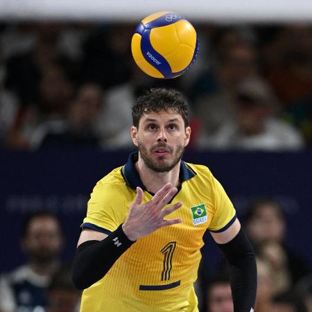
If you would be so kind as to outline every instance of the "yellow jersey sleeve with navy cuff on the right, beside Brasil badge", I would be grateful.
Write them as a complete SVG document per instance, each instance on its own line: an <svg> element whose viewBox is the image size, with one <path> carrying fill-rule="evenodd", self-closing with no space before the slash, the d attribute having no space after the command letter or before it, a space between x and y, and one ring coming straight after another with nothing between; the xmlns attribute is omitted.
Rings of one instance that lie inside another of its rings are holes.
<svg viewBox="0 0 312 312"><path fill-rule="evenodd" d="M236 211L222 185L213 175L211 185L214 189L214 215L208 229L210 232L223 232L236 220Z"/></svg>

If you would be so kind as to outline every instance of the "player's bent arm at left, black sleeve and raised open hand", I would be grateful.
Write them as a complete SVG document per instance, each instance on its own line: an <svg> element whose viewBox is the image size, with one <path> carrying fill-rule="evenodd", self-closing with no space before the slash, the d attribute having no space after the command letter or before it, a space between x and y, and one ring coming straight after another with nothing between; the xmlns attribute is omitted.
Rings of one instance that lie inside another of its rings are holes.
<svg viewBox="0 0 312 312"><path fill-rule="evenodd" d="M83 229L78 248L73 259L71 277L78 289L85 289L102 279L112 268L121 254L140 237L146 236L160 227L181 223L180 219L167 220L164 217L182 206L176 202L164 207L177 193L171 184L166 184L149 202L141 205L144 193L137 188L137 196L132 203L125 222L109 235L92 229Z"/></svg>

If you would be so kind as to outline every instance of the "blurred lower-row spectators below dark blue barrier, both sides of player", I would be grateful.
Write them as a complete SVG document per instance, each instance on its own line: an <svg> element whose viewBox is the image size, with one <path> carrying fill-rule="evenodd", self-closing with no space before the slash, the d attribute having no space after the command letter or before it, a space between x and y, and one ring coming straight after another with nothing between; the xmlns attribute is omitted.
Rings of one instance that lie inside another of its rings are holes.
<svg viewBox="0 0 312 312"><path fill-rule="evenodd" d="M311 267L288 246L284 208L272 198L252 200L242 221L257 257L254 310L312 312ZM60 220L51 211L24 216L20 248L26 263L0 272L0 312L79 311L81 293L71 281L71 263L61 257L65 240ZM220 262L205 278L208 266L210 262L201 263L196 283L200 312L234 312L227 266Z"/></svg>

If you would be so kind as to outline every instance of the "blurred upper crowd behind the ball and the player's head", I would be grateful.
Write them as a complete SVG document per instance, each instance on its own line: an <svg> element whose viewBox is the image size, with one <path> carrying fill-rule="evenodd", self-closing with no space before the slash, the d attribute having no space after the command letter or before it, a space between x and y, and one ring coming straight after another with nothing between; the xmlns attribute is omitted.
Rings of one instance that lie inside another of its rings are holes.
<svg viewBox="0 0 312 312"><path fill-rule="evenodd" d="M135 26L1 24L0 148L132 148L132 104L162 86L189 99L190 148L311 147L311 25L195 25L198 59L172 80L132 60Z"/></svg>

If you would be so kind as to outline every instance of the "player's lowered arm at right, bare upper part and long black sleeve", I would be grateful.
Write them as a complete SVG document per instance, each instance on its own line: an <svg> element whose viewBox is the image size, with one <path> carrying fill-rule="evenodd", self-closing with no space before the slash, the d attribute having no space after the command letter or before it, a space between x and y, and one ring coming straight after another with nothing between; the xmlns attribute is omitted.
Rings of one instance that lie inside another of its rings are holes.
<svg viewBox="0 0 312 312"><path fill-rule="evenodd" d="M211 232L229 263L234 312L254 311L257 293L257 266L254 248L236 218L224 232Z"/></svg>

